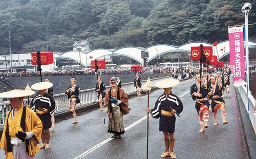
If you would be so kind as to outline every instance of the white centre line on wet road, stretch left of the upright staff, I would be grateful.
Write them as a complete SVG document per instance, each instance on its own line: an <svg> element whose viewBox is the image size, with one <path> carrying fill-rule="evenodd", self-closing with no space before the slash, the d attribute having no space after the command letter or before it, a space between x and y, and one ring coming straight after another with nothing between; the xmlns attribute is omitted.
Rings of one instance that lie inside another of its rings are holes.
<svg viewBox="0 0 256 159"><path fill-rule="evenodd" d="M143 118L141 118L140 120L137 120L136 122L134 122L133 124L129 125L128 127L126 127L124 130L127 131L130 128L134 127L135 125L137 125L138 123L140 123L142 120L146 119L147 115L144 116ZM95 149L99 148L100 146L104 145L105 143L111 141L114 138L108 138L102 142L100 142L99 144L93 146L92 148L88 149L87 151L85 151L84 153L82 153L81 155L75 157L74 159L78 159L78 158L83 158L84 156L88 155L89 153L91 153L92 151L94 151Z"/></svg>

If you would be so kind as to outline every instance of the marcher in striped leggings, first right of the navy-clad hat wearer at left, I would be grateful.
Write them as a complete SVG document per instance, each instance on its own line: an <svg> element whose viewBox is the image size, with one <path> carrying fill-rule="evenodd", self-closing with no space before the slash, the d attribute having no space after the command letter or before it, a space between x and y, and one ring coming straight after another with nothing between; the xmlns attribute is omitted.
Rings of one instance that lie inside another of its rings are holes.
<svg viewBox="0 0 256 159"><path fill-rule="evenodd" d="M73 115L75 121L73 121L73 124L78 123L77 120L77 114L75 111L75 106L80 103L79 99L79 91L80 87L76 84L77 80L75 77L72 77L70 79L71 85L68 87L68 89L65 91L65 95L68 95L68 99L70 98L70 105L69 105L69 112L71 115Z"/></svg>

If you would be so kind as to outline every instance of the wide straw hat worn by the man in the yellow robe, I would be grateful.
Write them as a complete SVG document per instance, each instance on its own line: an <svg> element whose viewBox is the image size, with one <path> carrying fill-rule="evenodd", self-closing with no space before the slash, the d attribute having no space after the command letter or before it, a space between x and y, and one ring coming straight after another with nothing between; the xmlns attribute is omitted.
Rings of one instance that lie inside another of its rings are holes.
<svg viewBox="0 0 256 159"><path fill-rule="evenodd" d="M16 89L16 90L10 90L8 92L0 93L0 98L19 98L19 97L27 97L33 94L35 94L35 91Z"/></svg>

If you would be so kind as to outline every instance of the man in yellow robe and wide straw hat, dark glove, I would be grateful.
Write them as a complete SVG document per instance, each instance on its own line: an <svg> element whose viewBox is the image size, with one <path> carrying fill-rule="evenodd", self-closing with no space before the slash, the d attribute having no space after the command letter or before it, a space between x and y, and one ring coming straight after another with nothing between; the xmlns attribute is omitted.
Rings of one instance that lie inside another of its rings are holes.
<svg viewBox="0 0 256 159"><path fill-rule="evenodd" d="M0 93L0 98L9 98L11 110L6 113L0 148L7 159L34 158L39 151L42 121L31 109L23 106L23 97L35 94L32 90L11 90Z"/></svg>

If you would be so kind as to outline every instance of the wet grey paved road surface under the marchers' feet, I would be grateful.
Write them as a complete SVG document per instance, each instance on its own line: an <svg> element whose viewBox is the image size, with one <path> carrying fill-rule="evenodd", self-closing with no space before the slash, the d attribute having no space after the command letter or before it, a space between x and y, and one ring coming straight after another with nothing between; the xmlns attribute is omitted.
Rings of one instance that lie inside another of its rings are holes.
<svg viewBox="0 0 256 159"><path fill-rule="evenodd" d="M173 88L173 93L181 96L190 90L193 81L185 81ZM150 94L150 107L154 106L156 99L163 90L156 90ZM129 99L131 112L123 117L124 126L128 127L146 115L146 95L140 99ZM194 101L188 92L180 98L184 105L181 118L177 117L175 131L174 153L177 158L248 158L246 145L242 135L241 121L238 113L237 100L233 86L230 94L225 97L227 125L214 126L214 119L210 113L209 125L204 133L199 133L199 122ZM73 118L56 123L56 128L51 132L51 148L40 150L36 155L41 158L75 158L95 145L108 139L111 134L107 133L107 121L103 124L104 112L93 110L78 116L79 123L72 124ZM218 119L221 113L218 111ZM165 150L163 134L159 132L159 119L150 117L149 125L149 158L160 158ZM221 122L220 122L221 123ZM122 135L122 139L113 139L97 149L87 153L84 159L142 159L146 158L146 125L147 120L142 120L131 127ZM4 158L0 151L0 158Z"/></svg>

